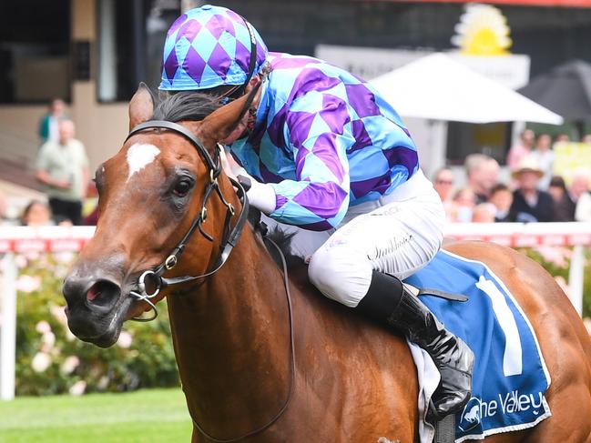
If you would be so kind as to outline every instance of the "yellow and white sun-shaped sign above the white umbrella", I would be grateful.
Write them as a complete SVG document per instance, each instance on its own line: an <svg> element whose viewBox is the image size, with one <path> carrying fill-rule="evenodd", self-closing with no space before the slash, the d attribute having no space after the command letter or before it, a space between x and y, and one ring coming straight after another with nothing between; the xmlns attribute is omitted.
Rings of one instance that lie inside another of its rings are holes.
<svg viewBox="0 0 591 443"><path fill-rule="evenodd" d="M465 55L506 55L513 43L507 19L491 5L466 5L455 32L452 43Z"/></svg>

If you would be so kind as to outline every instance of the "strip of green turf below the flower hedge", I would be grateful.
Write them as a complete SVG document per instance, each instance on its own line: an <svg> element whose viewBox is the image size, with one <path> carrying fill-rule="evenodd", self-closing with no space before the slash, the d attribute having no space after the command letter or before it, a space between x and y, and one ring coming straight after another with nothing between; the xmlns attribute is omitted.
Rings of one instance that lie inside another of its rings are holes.
<svg viewBox="0 0 591 443"><path fill-rule="evenodd" d="M180 388L0 401L1 443L189 442Z"/></svg>

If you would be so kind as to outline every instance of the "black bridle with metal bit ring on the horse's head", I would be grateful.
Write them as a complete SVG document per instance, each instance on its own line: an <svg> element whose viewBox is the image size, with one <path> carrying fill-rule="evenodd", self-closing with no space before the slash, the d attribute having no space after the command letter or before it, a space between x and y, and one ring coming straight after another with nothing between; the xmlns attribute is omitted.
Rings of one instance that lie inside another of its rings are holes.
<svg viewBox="0 0 591 443"><path fill-rule="evenodd" d="M199 156L203 159L205 165L209 170L209 183L205 188L205 193L203 195L203 203L201 204L199 216L197 216L193 220L193 223L189 227L189 230L187 231L187 234L185 234L185 237L183 237L180 240L180 242L178 242L178 245L172 250L170 255L168 255L167 259L164 260L163 263L161 263L158 267L156 267L153 270L149 269L145 271L144 273L142 273L141 276L139 276L139 292L130 292L130 295L132 297L135 297L138 300L145 301L152 309L151 317L132 318L136 321L150 321L158 317L158 309L156 308L156 305L152 303L151 299L158 296L160 289L172 285L189 283L191 281L198 280L199 278L209 277L218 272L219 268L224 266L224 263L226 263L226 260L228 260L232 248L236 246L236 243L239 240L240 234L242 233L242 229L244 228L244 225L247 221L247 217L249 215L249 199L246 195L244 187L240 185L238 181L229 178L232 185L237 189L236 194L238 195L240 204L242 206L236 224L234 225L234 227L231 226L231 219L232 217L236 216L236 208L232 206L232 204L229 203L228 200L224 197L224 195L221 192L221 189L219 189L218 183L218 177L222 170L221 160L219 158L221 149L223 149L221 145L217 144L214 156L210 156L208 150L199 141L199 138L192 134L189 131L189 129L187 129L184 126L180 126L177 123L167 122L164 120L153 120L139 124L138 126L134 127L131 131L129 131L129 134L126 138L126 142L129 139L129 137L134 136L139 132L146 131L147 129L168 129L189 139L189 142L191 142L191 144L197 149ZM208 209L206 205L208 203L209 196L211 196L211 194L214 191L216 194L218 194L219 199L227 208L226 219L224 221L223 237L219 245L218 259L212 265L212 267L209 268L209 271L200 276L183 276L170 278L162 277L165 272L177 266L179 257L182 255L183 251L185 250L185 247L187 246L187 243L189 243L190 238L193 236L193 233L197 229L199 229L201 235L207 238L209 241L212 242L214 240L212 236L210 236L205 230L203 230L203 222L205 222L205 220L208 217ZM151 292L148 293L148 291Z"/></svg>

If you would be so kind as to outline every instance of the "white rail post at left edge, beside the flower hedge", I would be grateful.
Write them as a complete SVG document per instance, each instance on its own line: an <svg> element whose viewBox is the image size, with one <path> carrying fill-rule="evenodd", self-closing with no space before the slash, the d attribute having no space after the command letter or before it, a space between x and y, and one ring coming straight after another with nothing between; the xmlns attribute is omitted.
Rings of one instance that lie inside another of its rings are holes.
<svg viewBox="0 0 591 443"><path fill-rule="evenodd" d="M0 324L0 399L15 398L16 265L11 252L4 257L2 323Z"/></svg>

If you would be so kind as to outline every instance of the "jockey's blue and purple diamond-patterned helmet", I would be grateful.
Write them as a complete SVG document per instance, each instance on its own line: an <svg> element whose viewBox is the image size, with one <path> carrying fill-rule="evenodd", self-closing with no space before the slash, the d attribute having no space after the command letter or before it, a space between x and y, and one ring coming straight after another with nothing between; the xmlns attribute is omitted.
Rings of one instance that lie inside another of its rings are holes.
<svg viewBox="0 0 591 443"><path fill-rule="evenodd" d="M256 55L253 65L251 49ZM203 5L178 17L168 29L159 89L245 85L268 54L257 30L243 17L225 7Z"/></svg>

